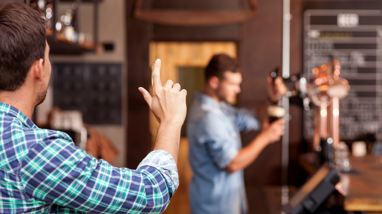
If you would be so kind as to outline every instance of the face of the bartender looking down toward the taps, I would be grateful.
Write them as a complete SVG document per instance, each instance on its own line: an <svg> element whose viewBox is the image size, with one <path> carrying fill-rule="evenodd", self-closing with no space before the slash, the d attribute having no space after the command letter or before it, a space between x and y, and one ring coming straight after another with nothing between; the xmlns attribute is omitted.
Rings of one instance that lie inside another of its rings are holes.
<svg viewBox="0 0 382 214"><path fill-rule="evenodd" d="M219 80L219 85L216 89L216 95L219 100L230 104L236 102L236 97L240 93L240 84L242 82L241 73L226 71L223 78Z"/></svg>

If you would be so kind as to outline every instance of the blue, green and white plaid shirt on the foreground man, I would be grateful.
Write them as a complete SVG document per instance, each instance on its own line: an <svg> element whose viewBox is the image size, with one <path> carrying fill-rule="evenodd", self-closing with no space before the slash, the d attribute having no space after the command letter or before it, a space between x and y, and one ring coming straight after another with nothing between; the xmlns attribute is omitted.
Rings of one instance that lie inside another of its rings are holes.
<svg viewBox="0 0 382 214"><path fill-rule="evenodd" d="M137 170L77 148L0 103L0 213L161 213L179 185L172 156L150 152Z"/></svg>

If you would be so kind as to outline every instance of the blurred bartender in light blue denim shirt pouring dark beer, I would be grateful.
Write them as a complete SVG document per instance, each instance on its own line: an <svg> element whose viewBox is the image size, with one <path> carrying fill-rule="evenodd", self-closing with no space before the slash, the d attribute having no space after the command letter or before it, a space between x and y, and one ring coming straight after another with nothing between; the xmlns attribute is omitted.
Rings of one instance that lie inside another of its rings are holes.
<svg viewBox="0 0 382 214"><path fill-rule="evenodd" d="M205 68L206 84L189 110L187 135L193 171L190 183L192 214L246 214L243 169L284 133L283 119L260 124L255 112L233 107L242 76L236 59L217 54ZM286 92L282 78L268 78L269 98ZM240 131L261 132L242 148Z"/></svg>

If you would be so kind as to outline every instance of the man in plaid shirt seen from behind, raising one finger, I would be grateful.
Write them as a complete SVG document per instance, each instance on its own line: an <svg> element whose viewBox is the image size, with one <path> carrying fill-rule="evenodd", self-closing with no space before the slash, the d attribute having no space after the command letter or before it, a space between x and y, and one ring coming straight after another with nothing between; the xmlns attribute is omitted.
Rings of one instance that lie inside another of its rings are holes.
<svg viewBox="0 0 382 214"><path fill-rule="evenodd" d="M153 96L139 88L161 123L154 149L136 170L116 168L30 120L47 93L48 54L39 11L23 3L0 8L0 213L162 213L179 185L186 90L162 86L155 62Z"/></svg>

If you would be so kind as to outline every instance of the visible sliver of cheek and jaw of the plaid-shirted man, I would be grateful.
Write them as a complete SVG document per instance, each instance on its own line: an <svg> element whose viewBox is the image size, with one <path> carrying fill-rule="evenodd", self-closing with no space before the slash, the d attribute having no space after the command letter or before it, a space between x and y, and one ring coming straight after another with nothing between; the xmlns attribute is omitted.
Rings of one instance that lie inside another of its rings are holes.
<svg viewBox="0 0 382 214"><path fill-rule="evenodd" d="M40 105L41 103L44 102L45 98L47 97L47 92L48 92L48 85L49 85L49 79L50 79L50 74L52 71L52 67L49 61L49 45L48 43L45 46L45 52L44 52L44 63L43 63L43 72L44 72L44 79L42 82L42 85L37 92L37 97L36 97L36 102L35 106Z"/></svg>

